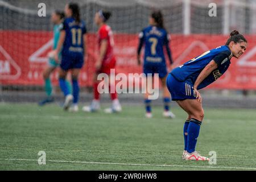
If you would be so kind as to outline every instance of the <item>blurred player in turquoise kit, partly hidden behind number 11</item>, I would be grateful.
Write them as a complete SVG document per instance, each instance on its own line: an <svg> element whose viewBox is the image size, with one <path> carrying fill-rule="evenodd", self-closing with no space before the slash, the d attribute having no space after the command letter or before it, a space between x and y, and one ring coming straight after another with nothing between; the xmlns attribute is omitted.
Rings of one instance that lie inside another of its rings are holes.
<svg viewBox="0 0 256 182"><path fill-rule="evenodd" d="M55 12L52 13L51 16L51 22L54 24L53 27L53 51L49 52L48 57L48 65L47 68L43 72L43 78L44 78L44 88L46 90L47 97L39 102L40 106L43 106L47 103L51 103L54 101L54 98L52 97L52 84L50 80L50 75L57 67L59 67L59 61L55 61L54 59L54 50L57 48L57 43L60 38L60 27L62 25L63 19L64 19L64 12L56 10ZM59 52L59 58L58 60L61 59L61 51ZM67 82L68 89L71 92L71 84Z"/></svg>

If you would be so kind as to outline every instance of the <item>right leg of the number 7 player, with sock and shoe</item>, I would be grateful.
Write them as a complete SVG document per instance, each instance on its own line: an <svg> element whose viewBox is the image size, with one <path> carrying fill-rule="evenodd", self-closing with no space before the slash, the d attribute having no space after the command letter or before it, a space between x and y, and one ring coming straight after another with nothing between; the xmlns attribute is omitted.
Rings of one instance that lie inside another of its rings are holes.
<svg viewBox="0 0 256 182"><path fill-rule="evenodd" d="M163 87L163 102L164 102L164 111L163 116L167 118L175 118L174 113L170 110L171 94L166 86L167 75L163 78L160 78L162 87Z"/></svg>

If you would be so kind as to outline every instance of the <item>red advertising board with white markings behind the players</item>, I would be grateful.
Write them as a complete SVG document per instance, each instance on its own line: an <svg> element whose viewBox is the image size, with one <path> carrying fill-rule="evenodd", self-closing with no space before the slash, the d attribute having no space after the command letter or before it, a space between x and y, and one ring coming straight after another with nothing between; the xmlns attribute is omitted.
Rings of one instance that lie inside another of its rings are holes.
<svg viewBox="0 0 256 182"><path fill-rule="evenodd" d="M172 35L171 50L175 66L199 56L209 49L224 45L228 36ZM256 89L256 36L247 35L248 47L240 59L232 58L230 68L208 88ZM138 35L114 34L114 53L117 58L115 73L141 73L136 53ZM97 58L95 34L88 34L88 54L80 74L82 86L92 85L94 62ZM0 84L43 85L42 73L47 65L47 53L52 49L52 32L0 31ZM57 84L57 71L52 75Z"/></svg>

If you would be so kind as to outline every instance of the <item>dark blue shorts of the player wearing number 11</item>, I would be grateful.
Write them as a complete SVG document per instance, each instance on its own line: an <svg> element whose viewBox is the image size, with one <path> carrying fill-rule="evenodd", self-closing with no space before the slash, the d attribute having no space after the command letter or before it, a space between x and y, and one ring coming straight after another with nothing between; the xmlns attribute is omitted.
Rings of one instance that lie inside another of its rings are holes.
<svg viewBox="0 0 256 182"><path fill-rule="evenodd" d="M64 71L68 71L68 69L81 69L84 65L84 55L82 53L70 53L63 54L60 68Z"/></svg>

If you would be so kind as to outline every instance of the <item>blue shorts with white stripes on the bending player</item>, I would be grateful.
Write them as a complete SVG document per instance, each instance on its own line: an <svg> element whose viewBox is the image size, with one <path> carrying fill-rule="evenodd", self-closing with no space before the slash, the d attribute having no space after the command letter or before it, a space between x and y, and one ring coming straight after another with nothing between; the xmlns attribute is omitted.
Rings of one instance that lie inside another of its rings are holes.
<svg viewBox="0 0 256 182"><path fill-rule="evenodd" d="M167 76L166 85L171 93L172 101L183 101L186 99L196 99L196 92L191 82L178 81L170 73Z"/></svg>

